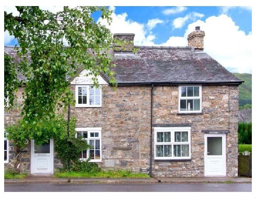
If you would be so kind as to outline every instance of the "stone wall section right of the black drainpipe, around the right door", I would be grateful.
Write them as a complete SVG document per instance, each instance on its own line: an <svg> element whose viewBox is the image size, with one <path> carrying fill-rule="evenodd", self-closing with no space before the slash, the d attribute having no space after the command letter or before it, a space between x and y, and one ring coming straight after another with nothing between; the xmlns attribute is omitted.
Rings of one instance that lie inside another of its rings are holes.
<svg viewBox="0 0 256 198"><path fill-rule="evenodd" d="M237 176L238 86L202 86L202 114L178 113L178 86L155 87L154 124L190 124L191 161L154 162L157 176L204 176L204 133L202 130L228 130L226 135L227 176ZM228 114L230 117L228 118ZM230 122L230 124L228 124Z"/></svg>

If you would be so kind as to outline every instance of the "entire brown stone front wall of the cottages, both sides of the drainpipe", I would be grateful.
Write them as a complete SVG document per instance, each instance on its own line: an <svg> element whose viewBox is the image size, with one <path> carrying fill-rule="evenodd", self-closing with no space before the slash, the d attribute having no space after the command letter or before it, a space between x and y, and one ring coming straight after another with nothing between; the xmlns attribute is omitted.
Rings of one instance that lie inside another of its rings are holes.
<svg viewBox="0 0 256 198"><path fill-rule="evenodd" d="M75 93L75 85L71 85L71 90ZM102 127L102 162L98 162L100 167L148 172L150 92L150 86L120 86L117 91L113 91L113 87L102 85L102 107L70 108L71 115L77 118L76 127ZM154 175L204 176L202 130L229 129L230 133L226 135L227 176L237 176L238 86L202 86L201 114L178 113L178 86L154 87L153 101L155 126L181 123L191 126L191 161L155 162L153 157ZM17 111L9 112L8 118L7 115L4 116L5 125L15 123L18 117ZM27 158L30 156L30 146L26 149L22 169L24 167L28 171L30 161ZM61 167L60 160L56 159L56 153L54 167Z"/></svg>

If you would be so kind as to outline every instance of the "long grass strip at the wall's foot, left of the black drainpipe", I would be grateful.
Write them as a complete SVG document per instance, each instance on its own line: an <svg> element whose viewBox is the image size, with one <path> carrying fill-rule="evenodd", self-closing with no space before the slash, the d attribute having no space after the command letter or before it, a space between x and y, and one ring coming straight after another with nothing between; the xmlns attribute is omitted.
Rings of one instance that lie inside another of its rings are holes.
<svg viewBox="0 0 256 198"><path fill-rule="evenodd" d="M107 170L97 173L67 171L55 173L56 178L149 178L149 175L144 173L132 173L128 170Z"/></svg>

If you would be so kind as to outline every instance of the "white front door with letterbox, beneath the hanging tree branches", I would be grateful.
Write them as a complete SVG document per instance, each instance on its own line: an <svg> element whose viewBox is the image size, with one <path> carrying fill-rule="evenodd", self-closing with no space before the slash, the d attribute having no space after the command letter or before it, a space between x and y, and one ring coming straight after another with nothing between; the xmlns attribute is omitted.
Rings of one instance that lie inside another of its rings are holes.
<svg viewBox="0 0 256 198"><path fill-rule="evenodd" d="M53 173L53 139L43 145L31 141L31 174Z"/></svg>

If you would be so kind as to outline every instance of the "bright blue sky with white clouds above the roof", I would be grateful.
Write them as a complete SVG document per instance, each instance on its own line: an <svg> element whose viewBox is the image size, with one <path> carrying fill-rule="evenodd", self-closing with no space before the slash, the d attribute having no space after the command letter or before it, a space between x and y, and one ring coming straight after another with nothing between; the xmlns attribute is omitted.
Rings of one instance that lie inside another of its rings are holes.
<svg viewBox="0 0 256 198"><path fill-rule="evenodd" d="M53 12L61 7L42 6ZM112 33L135 33L135 45L186 46L187 35L200 26L204 51L231 72L252 73L252 8L246 6L111 6ZM13 12L12 7L4 10ZM4 45L17 41L4 34Z"/></svg>

